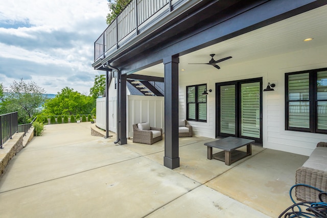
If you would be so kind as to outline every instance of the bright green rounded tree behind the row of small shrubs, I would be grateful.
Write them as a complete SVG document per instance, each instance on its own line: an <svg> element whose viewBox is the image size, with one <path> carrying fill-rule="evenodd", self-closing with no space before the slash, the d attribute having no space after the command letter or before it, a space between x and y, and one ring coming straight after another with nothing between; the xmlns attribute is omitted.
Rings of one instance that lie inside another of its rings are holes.
<svg viewBox="0 0 327 218"><path fill-rule="evenodd" d="M43 114L46 115L72 115L88 114L95 107L96 101L92 96L86 96L65 87L58 92L54 99L44 103Z"/></svg>

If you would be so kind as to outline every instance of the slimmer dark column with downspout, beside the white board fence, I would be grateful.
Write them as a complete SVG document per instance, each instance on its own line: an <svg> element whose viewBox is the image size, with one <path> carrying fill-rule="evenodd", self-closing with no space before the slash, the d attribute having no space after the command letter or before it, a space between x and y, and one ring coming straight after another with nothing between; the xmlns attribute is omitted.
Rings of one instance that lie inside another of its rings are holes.
<svg viewBox="0 0 327 218"><path fill-rule="evenodd" d="M127 101L127 98L126 98L126 80L127 80L127 75L124 74L122 75L121 72L119 72L120 74L120 80L119 80L119 83L120 83L120 86L119 86L119 110L120 110L120 113L119 113L119 120L120 120L120 125L119 125L119 132L120 132L120 141L118 142L119 144L127 144L127 136L126 136L126 132L127 132L127 129L126 129L126 122L127 122L127 118L126 118L126 101Z"/></svg>

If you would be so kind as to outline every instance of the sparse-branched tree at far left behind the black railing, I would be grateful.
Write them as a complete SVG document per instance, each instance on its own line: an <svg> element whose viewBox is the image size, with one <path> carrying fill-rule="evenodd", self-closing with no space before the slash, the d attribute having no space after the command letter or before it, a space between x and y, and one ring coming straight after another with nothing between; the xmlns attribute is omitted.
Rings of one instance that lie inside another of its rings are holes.
<svg viewBox="0 0 327 218"><path fill-rule="evenodd" d="M46 100L45 91L35 82L14 81L8 88L0 87L1 112L18 111L18 123L31 122L33 116L40 113L39 107Z"/></svg>

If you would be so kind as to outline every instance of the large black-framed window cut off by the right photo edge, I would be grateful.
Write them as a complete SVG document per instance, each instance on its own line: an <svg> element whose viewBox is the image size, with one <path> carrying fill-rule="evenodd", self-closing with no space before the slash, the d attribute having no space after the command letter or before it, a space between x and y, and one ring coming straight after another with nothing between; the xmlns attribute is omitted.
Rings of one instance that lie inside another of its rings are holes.
<svg viewBox="0 0 327 218"><path fill-rule="evenodd" d="M327 133L327 68L285 74L286 130Z"/></svg>

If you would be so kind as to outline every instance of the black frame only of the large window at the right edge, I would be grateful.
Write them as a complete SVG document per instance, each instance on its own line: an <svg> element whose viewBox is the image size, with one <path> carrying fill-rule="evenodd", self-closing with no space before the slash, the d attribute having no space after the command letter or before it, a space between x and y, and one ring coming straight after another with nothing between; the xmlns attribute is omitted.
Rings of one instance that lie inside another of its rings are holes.
<svg viewBox="0 0 327 218"><path fill-rule="evenodd" d="M318 68L288 72L285 74L285 130L310 132L317 134L327 134L327 130L318 129L318 102L327 102L326 100L317 99L317 73L326 71L327 68ZM289 76L309 73L309 100L289 100ZM289 103L290 102L309 102L309 128L289 127Z"/></svg>

